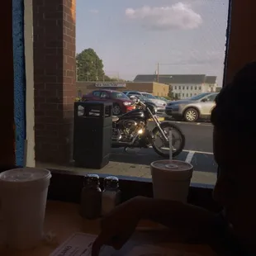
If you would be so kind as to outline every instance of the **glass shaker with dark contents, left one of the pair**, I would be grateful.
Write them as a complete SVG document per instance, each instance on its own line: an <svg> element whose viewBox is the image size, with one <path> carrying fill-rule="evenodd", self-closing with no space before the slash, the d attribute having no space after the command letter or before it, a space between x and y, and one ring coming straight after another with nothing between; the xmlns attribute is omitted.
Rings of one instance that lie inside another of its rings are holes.
<svg viewBox="0 0 256 256"><path fill-rule="evenodd" d="M101 215L102 190L97 174L87 174L84 177L81 193L80 214L83 218L93 220Z"/></svg>

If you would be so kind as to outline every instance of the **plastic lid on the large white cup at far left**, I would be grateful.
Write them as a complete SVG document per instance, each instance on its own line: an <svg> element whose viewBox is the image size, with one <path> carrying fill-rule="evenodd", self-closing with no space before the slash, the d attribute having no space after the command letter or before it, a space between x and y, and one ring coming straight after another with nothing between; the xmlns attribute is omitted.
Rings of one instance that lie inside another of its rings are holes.
<svg viewBox="0 0 256 256"><path fill-rule="evenodd" d="M15 168L0 173L0 183L9 186L32 185L50 178L50 171L43 168Z"/></svg>

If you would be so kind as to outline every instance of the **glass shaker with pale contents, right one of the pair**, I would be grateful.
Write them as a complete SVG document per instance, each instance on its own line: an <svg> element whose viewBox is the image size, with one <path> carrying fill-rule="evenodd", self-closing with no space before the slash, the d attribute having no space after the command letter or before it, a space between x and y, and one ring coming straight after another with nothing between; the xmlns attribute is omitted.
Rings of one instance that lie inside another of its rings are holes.
<svg viewBox="0 0 256 256"><path fill-rule="evenodd" d="M121 201L119 180L115 176L108 176L104 179L102 192L102 216L112 211Z"/></svg>

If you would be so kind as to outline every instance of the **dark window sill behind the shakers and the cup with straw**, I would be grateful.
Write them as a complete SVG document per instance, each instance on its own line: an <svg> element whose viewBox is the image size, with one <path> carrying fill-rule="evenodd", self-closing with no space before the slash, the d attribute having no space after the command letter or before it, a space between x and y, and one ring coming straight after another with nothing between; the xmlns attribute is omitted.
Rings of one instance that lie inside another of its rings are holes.
<svg viewBox="0 0 256 256"><path fill-rule="evenodd" d="M84 173L57 169L50 169L50 172L52 173L52 178L48 198L50 200L79 203ZM102 183L103 178L109 175L102 174L99 176ZM120 180L122 201L136 196L153 197L153 187L150 178L126 176L118 176L118 178ZM220 207L211 197L213 187L207 184L192 183L188 202L210 211L220 211Z"/></svg>

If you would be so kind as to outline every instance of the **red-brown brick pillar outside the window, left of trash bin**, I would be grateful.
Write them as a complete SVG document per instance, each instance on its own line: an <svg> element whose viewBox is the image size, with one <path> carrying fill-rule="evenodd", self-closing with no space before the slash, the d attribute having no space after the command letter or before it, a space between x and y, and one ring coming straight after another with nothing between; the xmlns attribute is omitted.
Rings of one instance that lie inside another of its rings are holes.
<svg viewBox="0 0 256 256"><path fill-rule="evenodd" d="M36 161L71 159L75 97L75 0L34 0Z"/></svg>

